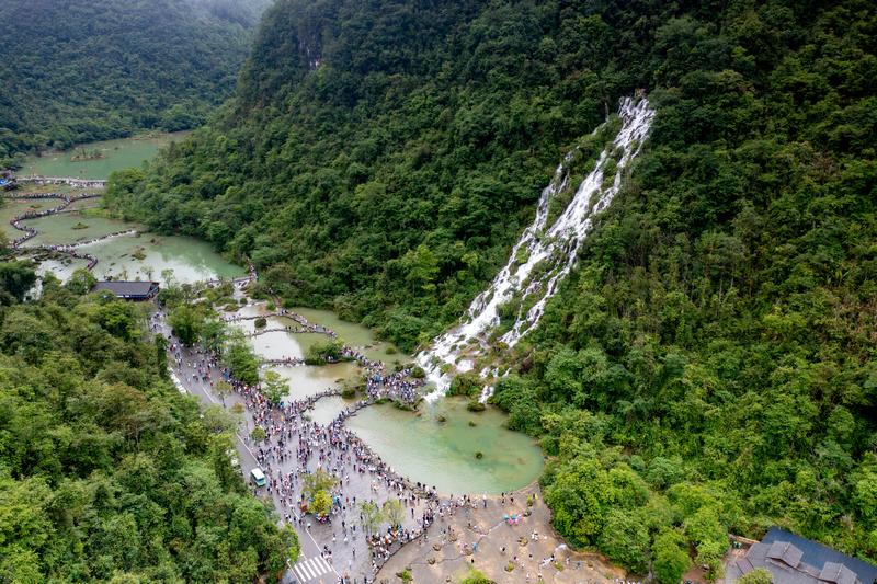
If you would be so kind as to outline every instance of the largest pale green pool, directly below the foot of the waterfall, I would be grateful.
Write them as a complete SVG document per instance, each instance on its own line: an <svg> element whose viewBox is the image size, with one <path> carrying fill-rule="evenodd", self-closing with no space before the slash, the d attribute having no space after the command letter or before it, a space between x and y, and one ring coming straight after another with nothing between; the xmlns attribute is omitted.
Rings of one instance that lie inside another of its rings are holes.
<svg viewBox="0 0 877 584"><path fill-rule="evenodd" d="M526 486L543 466L539 448L524 434L504 428L504 421L496 410L472 413L466 400L446 398L421 404L418 415L390 404L366 408L348 427L410 480L425 481L443 494L497 494ZM483 454L480 460L478 451Z"/></svg>

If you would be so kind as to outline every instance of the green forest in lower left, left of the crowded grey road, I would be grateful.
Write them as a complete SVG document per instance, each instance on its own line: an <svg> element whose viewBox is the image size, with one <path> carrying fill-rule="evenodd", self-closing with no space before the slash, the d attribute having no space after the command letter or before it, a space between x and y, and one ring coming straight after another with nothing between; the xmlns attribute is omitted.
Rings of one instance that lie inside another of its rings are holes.
<svg viewBox="0 0 877 584"><path fill-rule="evenodd" d="M140 307L0 263L0 581L253 582L297 557ZM202 415L203 413L203 415Z"/></svg>

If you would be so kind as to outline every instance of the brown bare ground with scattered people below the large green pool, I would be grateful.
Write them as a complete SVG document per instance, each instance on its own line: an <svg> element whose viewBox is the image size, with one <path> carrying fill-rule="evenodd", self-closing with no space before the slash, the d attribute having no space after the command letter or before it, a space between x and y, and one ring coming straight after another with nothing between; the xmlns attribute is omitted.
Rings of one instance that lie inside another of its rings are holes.
<svg viewBox="0 0 877 584"><path fill-rule="evenodd" d="M529 495L536 497L532 507L526 504ZM512 496L514 504L506 496L504 506L500 497L488 497L487 508L477 497L477 509L458 509L453 517L436 520L426 533L428 539L408 543L384 564L377 582L400 583L397 573L408 569L414 584L458 583L470 568L480 570L499 584L540 581L596 584L625 580L624 570L600 556L567 549L549 524L549 509L542 501L537 484ZM516 525L503 519L527 509L529 516L522 517Z"/></svg>

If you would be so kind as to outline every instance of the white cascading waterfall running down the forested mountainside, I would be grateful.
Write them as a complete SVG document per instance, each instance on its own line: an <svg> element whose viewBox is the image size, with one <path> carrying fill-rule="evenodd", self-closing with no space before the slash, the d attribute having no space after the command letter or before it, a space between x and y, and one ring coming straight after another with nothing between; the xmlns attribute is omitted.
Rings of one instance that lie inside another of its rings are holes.
<svg viewBox="0 0 877 584"><path fill-rule="evenodd" d="M622 100L618 108L622 129L612 145L600 154L594 170L579 185L563 213L546 229L550 202L568 186L571 170L569 165L576 150L563 158L551 182L542 193L536 218L524 230L512 249L509 262L490 287L472 300L460 324L434 339L430 348L417 356L417 362L426 370L429 379L438 388L428 399L437 398L447 390L453 373L468 371L475 366L474 357L487 346L489 331L500 322L499 307L515 295L522 296L522 305L532 308L526 313L519 310L514 325L500 341L510 347L514 346L538 323L545 312L545 304L557 293L559 284L576 264L579 249L593 227L594 216L605 209L618 192L622 175L642 148L653 115L654 111L645 99ZM613 153L620 153L614 171L607 168ZM604 188L604 174L607 171L615 174L612 183ZM519 264L520 254L524 254L526 261ZM540 268L534 274L537 265ZM448 370L443 373L443 369ZM485 367L480 375L482 378L496 378L498 370ZM481 401L486 401L491 391L492 382L487 379Z"/></svg>

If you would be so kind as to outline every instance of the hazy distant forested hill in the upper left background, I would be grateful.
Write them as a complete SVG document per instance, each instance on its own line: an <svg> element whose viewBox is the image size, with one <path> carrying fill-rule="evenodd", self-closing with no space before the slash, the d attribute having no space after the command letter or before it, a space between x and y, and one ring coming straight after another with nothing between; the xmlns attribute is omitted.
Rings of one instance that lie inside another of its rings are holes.
<svg viewBox="0 0 877 584"><path fill-rule="evenodd" d="M31 149L178 130L235 88L266 0L4 0L0 165Z"/></svg>

